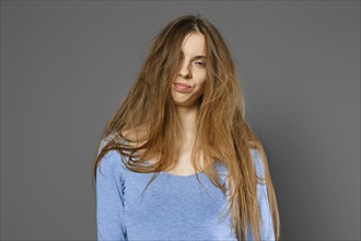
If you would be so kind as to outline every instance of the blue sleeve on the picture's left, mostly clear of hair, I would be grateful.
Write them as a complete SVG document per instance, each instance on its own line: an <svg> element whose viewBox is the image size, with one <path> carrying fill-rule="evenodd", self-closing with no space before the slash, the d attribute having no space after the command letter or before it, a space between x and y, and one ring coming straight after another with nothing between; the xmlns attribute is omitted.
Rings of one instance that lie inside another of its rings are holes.
<svg viewBox="0 0 361 241"><path fill-rule="evenodd" d="M97 240L126 240L124 181L119 154L112 150L96 170Z"/></svg>

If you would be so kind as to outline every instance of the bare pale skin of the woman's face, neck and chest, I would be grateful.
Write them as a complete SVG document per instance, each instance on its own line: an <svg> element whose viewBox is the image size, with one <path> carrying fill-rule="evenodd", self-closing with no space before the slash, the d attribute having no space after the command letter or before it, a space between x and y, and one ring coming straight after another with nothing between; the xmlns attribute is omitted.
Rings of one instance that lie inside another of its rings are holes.
<svg viewBox="0 0 361 241"><path fill-rule="evenodd" d="M166 171L173 175L191 175L195 169L190 161L193 141L195 136L196 116L198 114L197 101L203 93L207 71L205 67L206 42L201 33L188 34L182 45L182 65L178 76L172 84L172 96L176 105L179 120L183 146L176 159L174 168ZM187 88L179 90L177 83L186 84ZM123 133L128 136L128 131ZM151 160L149 160L152 162Z"/></svg>

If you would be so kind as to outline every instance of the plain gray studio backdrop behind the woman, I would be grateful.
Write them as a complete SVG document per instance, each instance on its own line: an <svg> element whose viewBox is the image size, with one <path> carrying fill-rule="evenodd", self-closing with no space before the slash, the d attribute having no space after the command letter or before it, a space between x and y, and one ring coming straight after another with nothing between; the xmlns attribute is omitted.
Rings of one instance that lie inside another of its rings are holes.
<svg viewBox="0 0 361 241"><path fill-rule="evenodd" d="M360 239L359 1L2 1L1 239L96 238L95 147L168 21L223 34L282 240Z"/></svg>

